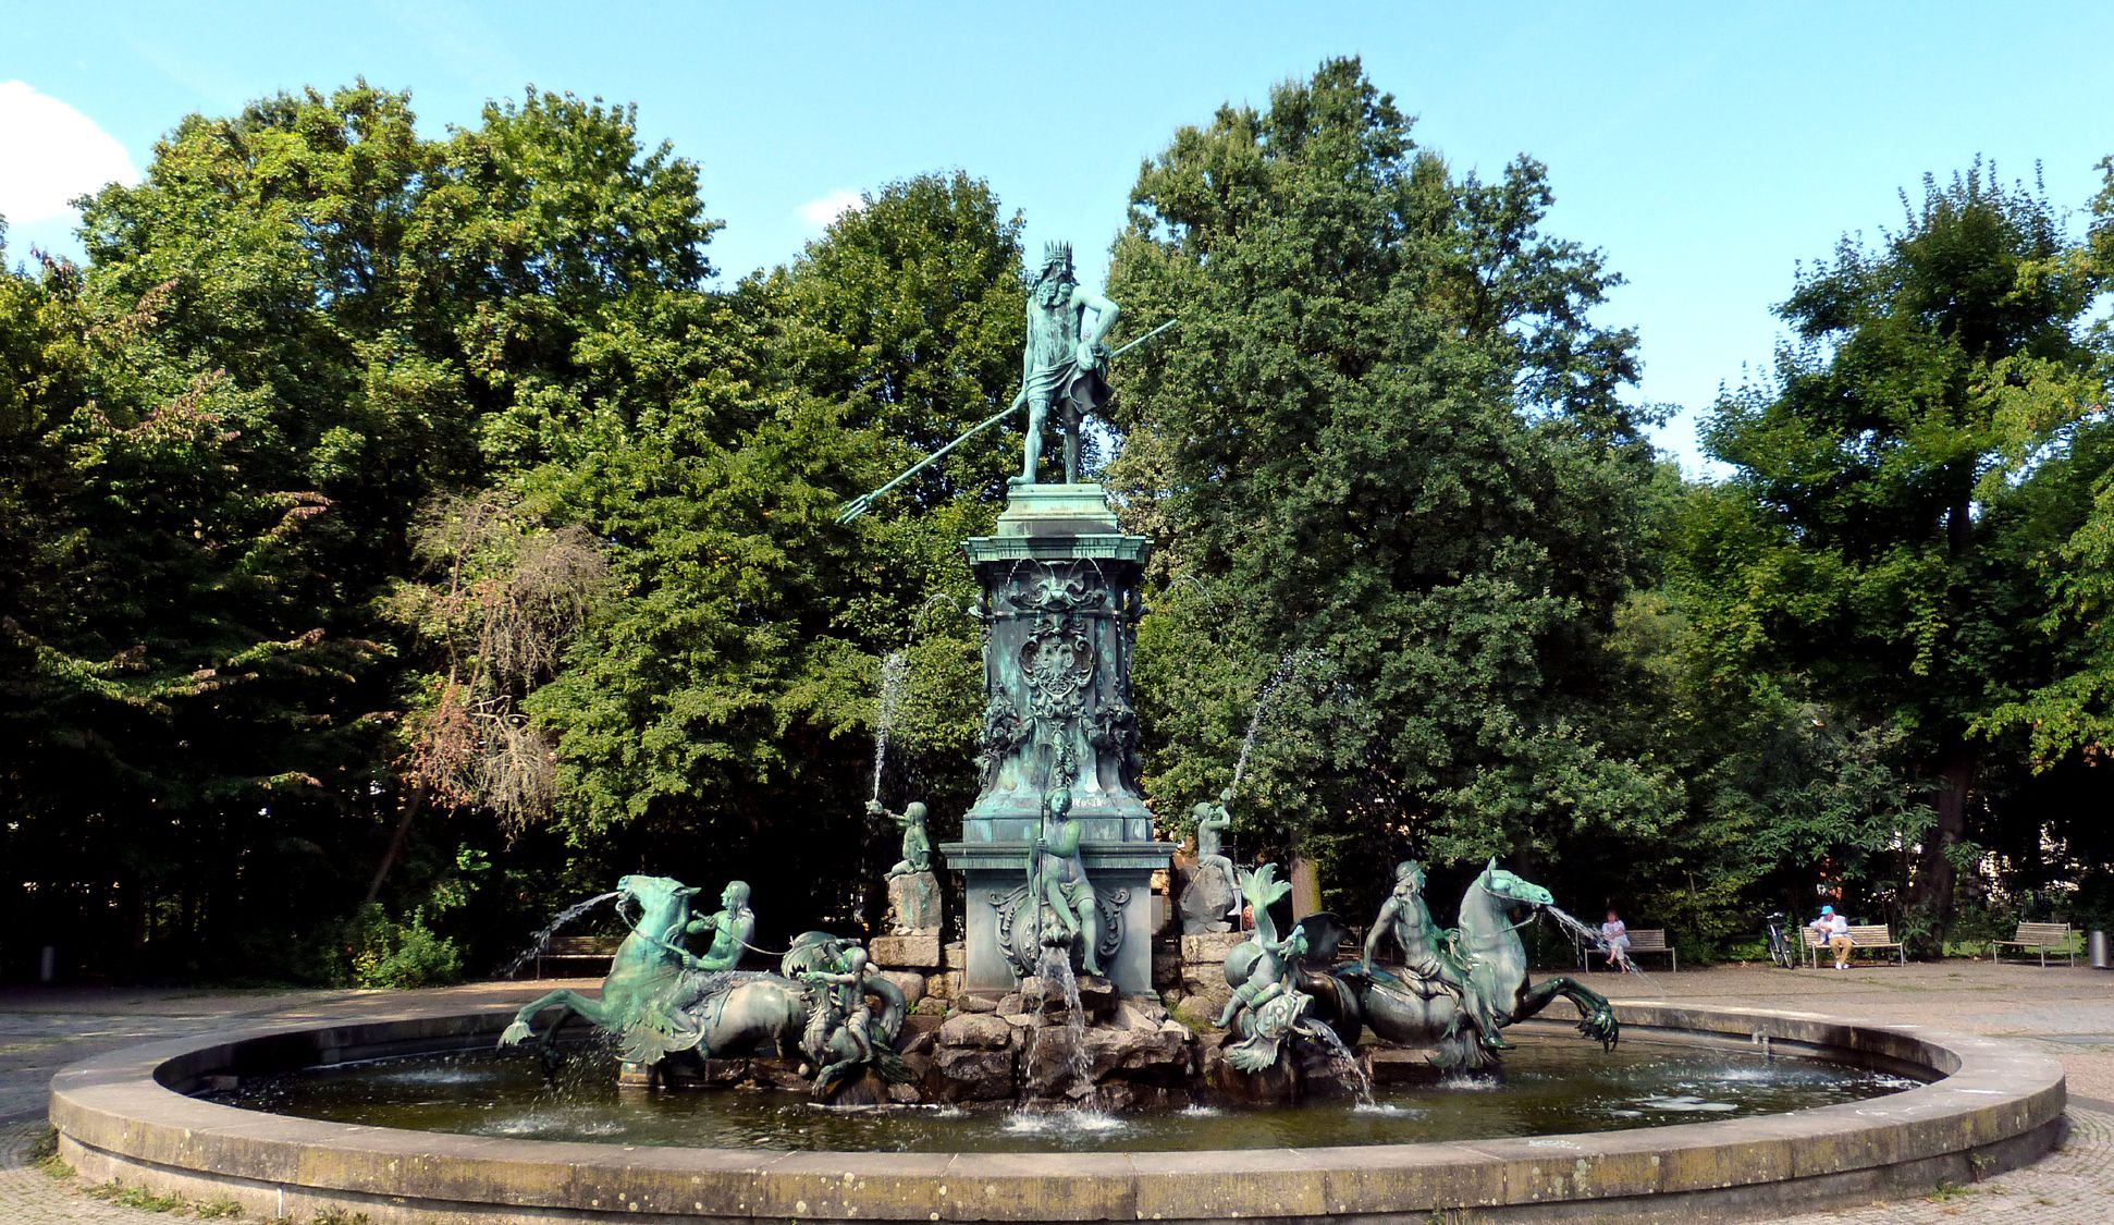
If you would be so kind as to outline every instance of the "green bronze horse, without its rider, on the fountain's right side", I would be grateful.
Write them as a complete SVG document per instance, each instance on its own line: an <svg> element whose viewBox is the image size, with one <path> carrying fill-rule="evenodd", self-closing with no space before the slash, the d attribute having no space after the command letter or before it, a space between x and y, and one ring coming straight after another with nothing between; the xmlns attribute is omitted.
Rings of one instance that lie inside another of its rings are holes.
<svg viewBox="0 0 2114 1225"><path fill-rule="evenodd" d="M1514 876L1497 859L1469 882L1461 897L1459 952L1467 963L1461 984L1444 984L1412 971L1389 973L1372 963L1347 963L1334 975L1359 1003L1364 1022L1385 1041L1433 1047L1442 1068L1480 1071L1497 1064L1495 1043L1484 1043L1476 1020L1492 1026L1522 1022L1556 997L1579 1009L1579 1032L1615 1049L1621 1024L1600 992L1564 975L1539 984L1526 975L1526 944L1512 922L1514 906L1550 906L1550 891Z"/></svg>

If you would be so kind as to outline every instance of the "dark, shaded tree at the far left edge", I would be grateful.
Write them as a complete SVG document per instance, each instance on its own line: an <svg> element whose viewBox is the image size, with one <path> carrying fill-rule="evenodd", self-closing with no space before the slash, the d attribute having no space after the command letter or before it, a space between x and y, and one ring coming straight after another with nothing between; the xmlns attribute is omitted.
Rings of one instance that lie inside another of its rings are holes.
<svg viewBox="0 0 2114 1225"><path fill-rule="evenodd" d="M169 300L0 273L11 920L156 973L216 931L266 944L252 908L330 876L296 829L372 776L381 738L340 707L374 643L302 599L326 504L249 465L235 425L260 398L165 349Z"/></svg>

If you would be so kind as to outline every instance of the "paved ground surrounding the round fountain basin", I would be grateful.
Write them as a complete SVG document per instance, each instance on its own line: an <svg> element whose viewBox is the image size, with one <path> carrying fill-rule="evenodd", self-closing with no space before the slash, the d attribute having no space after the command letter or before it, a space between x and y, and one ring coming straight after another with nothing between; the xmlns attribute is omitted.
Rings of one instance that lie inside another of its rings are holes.
<svg viewBox="0 0 2114 1225"><path fill-rule="evenodd" d="M2114 1221L2114 973L2034 965L1945 963L1782 971L1721 967L1617 980L1588 975L1615 999L1683 999L1803 1009L1843 1018L1926 1024L2015 1037L2063 1062L2070 1140L2044 1162L1928 1200L1784 1219L1780 1225L2006 1221L2006 1225ZM431 992L518 999L520 984ZM91 1197L76 1181L44 1174L32 1147L44 1132L51 1075L95 1052L182 1037L262 1018L334 1018L370 1007L376 992L0 990L0 1225L169 1221ZM393 997L402 999L402 997Z"/></svg>

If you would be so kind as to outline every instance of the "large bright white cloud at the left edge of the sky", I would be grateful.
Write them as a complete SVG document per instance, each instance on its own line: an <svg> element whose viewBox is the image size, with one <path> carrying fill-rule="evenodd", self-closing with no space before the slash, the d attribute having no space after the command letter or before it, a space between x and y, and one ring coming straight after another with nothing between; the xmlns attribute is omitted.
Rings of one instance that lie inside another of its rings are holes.
<svg viewBox="0 0 2114 1225"><path fill-rule="evenodd" d="M95 121L21 80L0 80L0 216L11 226L72 220L68 203L135 182L131 154Z"/></svg>

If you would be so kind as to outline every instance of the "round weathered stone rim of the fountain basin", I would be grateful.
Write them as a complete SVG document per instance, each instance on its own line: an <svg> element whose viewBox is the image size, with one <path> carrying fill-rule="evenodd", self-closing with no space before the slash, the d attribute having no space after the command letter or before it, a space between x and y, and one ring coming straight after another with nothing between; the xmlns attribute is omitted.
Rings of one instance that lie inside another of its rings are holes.
<svg viewBox="0 0 2114 1225"><path fill-rule="evenodd" d="M514 1140L264 1115L186 1096L302 1066L490 1043L509 1013L425 1011L112 1052L53 1077L59 1153L264 1217L410 1221L1695 1221L1968 1183L2061 1134L2063 1073L1996 1039L1812 1013L1619 1003L1626 1032L1917 1068L1932 1083L1782 1115L1624 1132L1131 1153L791 1153Z"/></svg>

